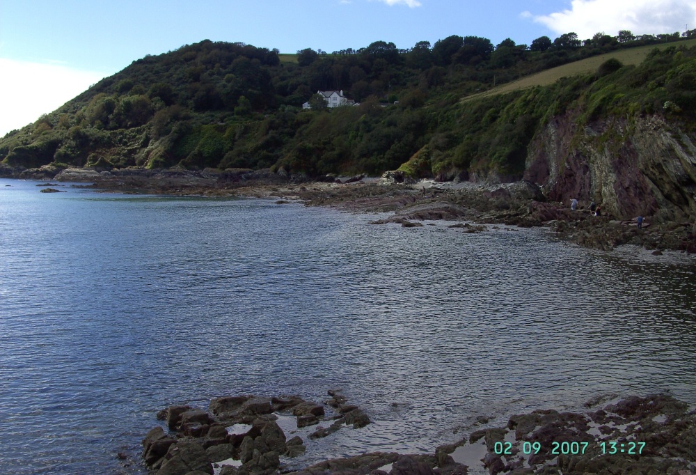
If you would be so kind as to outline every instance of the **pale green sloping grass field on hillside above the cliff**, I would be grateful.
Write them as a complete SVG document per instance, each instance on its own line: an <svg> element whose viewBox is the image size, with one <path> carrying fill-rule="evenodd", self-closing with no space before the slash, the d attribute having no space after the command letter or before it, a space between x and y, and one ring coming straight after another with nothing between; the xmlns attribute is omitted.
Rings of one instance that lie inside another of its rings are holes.
<svg viewBox="0 0 696 475"><path fill-rule="evenodd" d="M511 91L517 91L519 89L530 88L533 86L548 86L548 84L553 84L555 81L562 77L569 77L580 74L587 74L587 72L594 72L599 68L599 65L610 58L616 58L624 65L637 65L642 63L645 56L652 49L659 48L665 49L670 46L683 46L683 47L693 47L696 46L696 40L686 40L672 43L664 43L662 45L649 45L641 46L638 48L631 49L621 49L619 51L601 54L599 56L594 56L592 58L583 59L580 61L575 61L574 63L564 64L558 66L557 68L552 68L546 71L537 72L535 75L528 77L523 77L516 81L503 84L488 91L482 93L472 94L463 98L461 102L467 102L472 99L484 98L488 95L504 94Z"/></svg>

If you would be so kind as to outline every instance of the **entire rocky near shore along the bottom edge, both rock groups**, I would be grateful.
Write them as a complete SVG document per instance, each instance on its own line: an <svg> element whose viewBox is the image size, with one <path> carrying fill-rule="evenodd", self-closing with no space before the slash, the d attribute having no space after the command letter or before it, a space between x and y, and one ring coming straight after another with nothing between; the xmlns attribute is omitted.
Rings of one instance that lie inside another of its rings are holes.
<svg viewBox="0 0 696 475"><path fill-rule="evenodd" d="M364 453L302 469L286 461L303 455L304 441L287 438L279 418L308 437L359 430L370 423L338 390L323 404L299 396L214 398L208 410L174 405L143 439L143 460L156 475L465 475L674 474L696 471L696 411L672 396L590 401L587 412L536 410L507 426L476 430L433 454ZM291 434L292 428L286 426ZM288 434L290 435L290 434Z"/></svg>

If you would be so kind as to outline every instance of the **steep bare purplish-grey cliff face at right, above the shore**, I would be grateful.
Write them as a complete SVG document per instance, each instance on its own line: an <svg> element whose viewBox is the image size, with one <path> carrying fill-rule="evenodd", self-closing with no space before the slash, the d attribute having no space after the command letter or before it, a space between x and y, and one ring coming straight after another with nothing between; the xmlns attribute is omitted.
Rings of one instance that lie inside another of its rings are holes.
<svg viewBox="0 0 696 475"><path fill-rule="evenodd" d="M583 130L575 119L554 118L530 144L525 179L548 199L594 199L620 219L696 215L694 137L661 116L602 120Z"/></svg>

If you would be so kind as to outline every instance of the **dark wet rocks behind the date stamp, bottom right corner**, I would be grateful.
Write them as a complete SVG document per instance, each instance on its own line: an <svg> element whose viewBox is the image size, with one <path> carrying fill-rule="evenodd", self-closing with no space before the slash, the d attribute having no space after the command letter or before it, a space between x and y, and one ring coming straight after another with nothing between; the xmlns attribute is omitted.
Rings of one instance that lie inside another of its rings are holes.
<svg viewBox="0 0 696 475"><path fill-rule="evenodd" d="M588 403L592 407L592 403ZM629 397L594 412L536 410L504 428L477 430L457 447L479 446L491 475L691 474L696 469L696 414L664 394Z"/></svg>

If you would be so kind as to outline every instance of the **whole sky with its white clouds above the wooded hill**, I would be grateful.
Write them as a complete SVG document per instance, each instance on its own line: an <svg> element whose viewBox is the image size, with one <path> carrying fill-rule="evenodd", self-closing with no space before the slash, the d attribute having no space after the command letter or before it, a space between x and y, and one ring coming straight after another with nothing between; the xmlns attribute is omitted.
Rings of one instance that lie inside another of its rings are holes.
<svg viewBox="0 0 696 475"><path fill-rule="evenodd" d="M2 0L0 136L145 54L209 39L293 53L450 35L529 44L696 29L696 0ZM31 99L31 100L30 100Z"/></svg>

